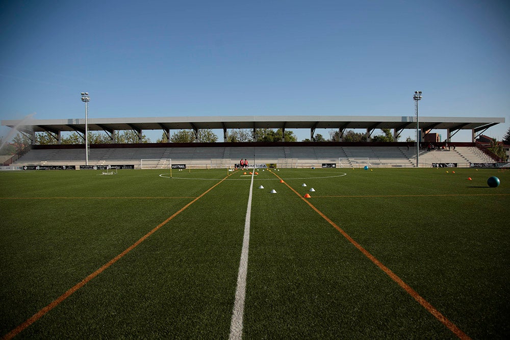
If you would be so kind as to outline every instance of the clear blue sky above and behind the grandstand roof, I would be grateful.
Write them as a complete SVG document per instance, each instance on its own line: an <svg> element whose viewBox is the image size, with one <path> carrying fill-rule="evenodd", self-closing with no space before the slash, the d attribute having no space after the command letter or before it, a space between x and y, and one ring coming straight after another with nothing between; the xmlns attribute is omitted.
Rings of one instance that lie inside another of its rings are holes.
<svg viewBox="0 0 510 340"><path fill-rule="evenodd" d="M83 118L82 91L90 118L413 116L421 90L420 116L504 117L501 139L509 17L507 1L1 2L0 119Z"/></svg>

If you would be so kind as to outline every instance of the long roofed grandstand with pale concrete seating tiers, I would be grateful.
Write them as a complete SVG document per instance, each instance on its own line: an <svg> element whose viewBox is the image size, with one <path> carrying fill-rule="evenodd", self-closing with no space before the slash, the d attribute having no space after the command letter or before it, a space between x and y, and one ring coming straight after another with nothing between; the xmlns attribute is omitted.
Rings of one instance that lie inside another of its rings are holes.
<svg viewBox="0 0 510 340"><path fill-rule="evenodd" d="M114 141L121 130L134 130L140 140L143 130L192 129L198 137L200 129L222 129L224 142L218 143L136 143L91 144L87 166L130 165L135 169L164 168L180 164L190 168L226 168L239 163L241 158L250 164L271 165L280 168L307 167L431 167L437 164L455 164L469 167L473 163L498 162L487 148L477 145L475 139L488 128L504 123L504 118L415 117L388 116L223 116L223 117L166 117L166 118L99 118L53 119L16 121L3 120L2 125L18 130L35 141L36 133L47 132L56 140L52 145L32 145L23 155L4 160L4 165L75 166L85 165L84 144L61 145L63 132L104 131ZM314 140L317 128L338 129L337 142L226 142L230 129L281 128L309 129ZM395 140L404 129L421 131L420 146L409 142L371 142L375 129L392 129ZM347 129L364 129L367 142L344 142ZM427 142L434 131L446 130L446 139ZM471 130L472 140L448 142L460 130ZM417 152L419 162L417 162ZM150 161L149 161L150 160ZM167 162L168 160L168 162ZM170 161L171 160L171 161Z"/></svg>

